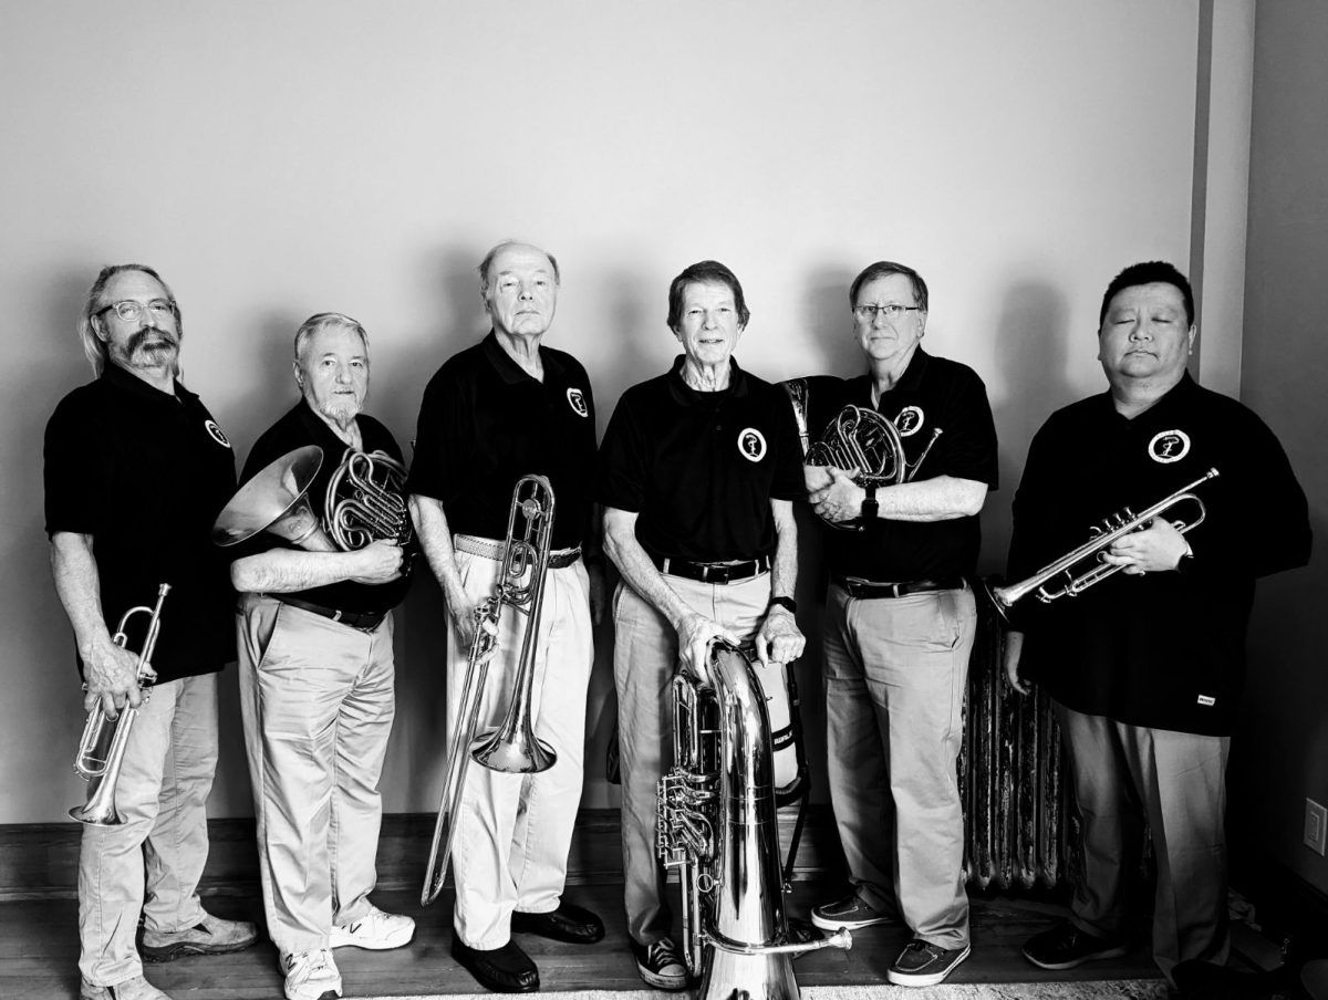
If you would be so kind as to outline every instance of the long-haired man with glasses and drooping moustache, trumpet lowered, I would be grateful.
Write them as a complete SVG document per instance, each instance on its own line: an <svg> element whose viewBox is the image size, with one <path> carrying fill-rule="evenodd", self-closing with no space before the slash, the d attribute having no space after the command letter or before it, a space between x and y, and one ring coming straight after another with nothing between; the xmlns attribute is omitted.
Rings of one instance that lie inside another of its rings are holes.
<svg viewBox="0 0 1328 1000"><path fill-rule="evenodd" d="M216 765L216 673L234 656L226 562L208 539L235 489L235 459L216 421L177 378L175 297L142 264L97 276L78 335L97 380L74 389L46 425L46 533L56 591L73 625L86 696L137 718L116 786L118 826L84 827L78 853L81 1000L159 1000L143 956L238 951L251 923L211 916L198 898L207 861L203 806ZM170 584L150 696L137 656L112 641L121 616ZM146 855L146 884L145 884ZM145 902L146 888L146 902Z"/></svg>

